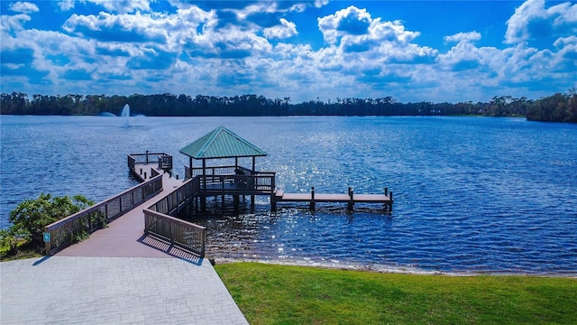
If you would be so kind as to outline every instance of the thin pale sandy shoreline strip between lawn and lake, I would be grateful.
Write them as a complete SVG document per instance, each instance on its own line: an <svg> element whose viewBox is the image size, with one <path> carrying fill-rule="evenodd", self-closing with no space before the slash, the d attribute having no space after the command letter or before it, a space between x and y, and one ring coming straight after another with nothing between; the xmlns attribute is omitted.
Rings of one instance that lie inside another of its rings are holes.
<svg viewBox="0 0 577 325"><path fill-rule="evenodd" d="M497 275L497 276L535 276L535 277L559 277L559 278L575 278L577 279L577 271L567 271L565 273L529 273L529 272L508 272L508 271L428 271L413 266L398 266L398 265L363 265L360 263L340 263L340 262L307 262L307 261L289 261L281 259L252 259L252 258L233 258L233 257L213 257L205 256L213 265L219 264L234 264L234 263L257 263L267 265L284 265L284 266L300 266L300 267L315 267L330 270L343 271L357 271L357 272L372 272L380 274L413 274L413 275L441 275L441 276L481 276L481 275ZM213 263L214 262L214 263Z"/></svg>

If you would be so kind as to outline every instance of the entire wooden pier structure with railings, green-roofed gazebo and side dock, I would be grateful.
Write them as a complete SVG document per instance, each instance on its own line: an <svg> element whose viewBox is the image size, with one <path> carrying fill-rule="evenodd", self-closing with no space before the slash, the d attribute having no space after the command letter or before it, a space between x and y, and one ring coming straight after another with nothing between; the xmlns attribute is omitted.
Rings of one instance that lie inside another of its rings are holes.
<svg viewBox="0 0 577 325"><path fill-rule="evenodd" d="M168 153L128 154L129 171L141 184L46 226L46 255L138 209L143 214L145 236L202 258L205 228L175 217L191 206L205 210L208 197L220 196L224 202L226 196L232 196L237 206L241 196L250 196L252 205L255 196L268 196L273 210L279 203L290 202L307 202L310 209L316 209L317 203L346 203L350 211L356 203L377 203L383 204L385 210L392 210L393 193L387 188L380 194L358 194L352 188L346 193L316 193L315 188L310 192L285 193L277 188L276 172L256 170L256 157L267 153L223 126L188 144L180 153L189 157L184 180L179 180L178 175L173 177L173 159ZM239 163L247 158L252 159L251 168ZM207 161L214 159L234 159L234 164L207 166ZM202 167L193 166L194 160L201 160Z"/></svg>

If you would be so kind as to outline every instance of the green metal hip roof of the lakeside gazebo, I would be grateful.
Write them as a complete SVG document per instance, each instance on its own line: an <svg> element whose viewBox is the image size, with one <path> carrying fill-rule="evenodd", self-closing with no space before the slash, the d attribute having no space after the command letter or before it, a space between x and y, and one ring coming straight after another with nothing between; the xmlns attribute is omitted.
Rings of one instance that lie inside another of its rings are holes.
<svg viewBox="0 0 577 325"><path fill-rule="evenodd" d="M195 159L267 155L267 153L259 149L256 145L235 135L224 126L220 126L192 144L188 144L186 147L180 149L180 153L184 153Z"/></svg>

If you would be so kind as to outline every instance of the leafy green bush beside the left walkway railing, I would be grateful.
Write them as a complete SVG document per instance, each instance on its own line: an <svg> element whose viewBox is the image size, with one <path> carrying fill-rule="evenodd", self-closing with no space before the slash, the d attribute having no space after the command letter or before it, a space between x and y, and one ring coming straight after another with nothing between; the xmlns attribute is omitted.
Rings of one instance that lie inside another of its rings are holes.
<svg viewBox="0 0 577 325"><path fill-rule="evenodd" d="M16 209L10 212L13 226L8 235L25 234L34 246L42 246L44 227L61 218L66 218L82 209L87 209L94 202L82 195L52 197L41 193L38 199L23 200Z"/></svg>

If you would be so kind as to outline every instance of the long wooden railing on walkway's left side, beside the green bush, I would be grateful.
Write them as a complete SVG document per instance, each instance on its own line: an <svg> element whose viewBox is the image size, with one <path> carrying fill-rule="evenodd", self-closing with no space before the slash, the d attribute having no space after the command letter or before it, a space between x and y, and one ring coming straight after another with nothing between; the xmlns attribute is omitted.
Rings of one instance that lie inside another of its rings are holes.
<svg viewBox="0 0 577 325"><path fill-rule="evenodd" d="M44 228L50 234L50 241L45 243L46 255L69 246L86 237L106 223L141 205L162 190L162 175L154 176L150 181L134 186L132 189L115 195L94 206L79 211L67 218L60 219Z"/></svg>

